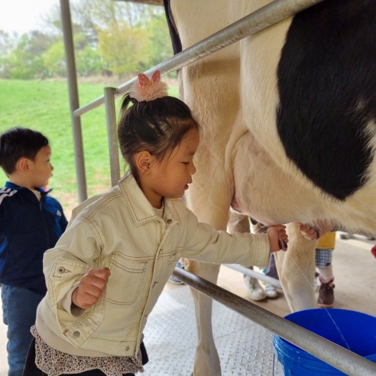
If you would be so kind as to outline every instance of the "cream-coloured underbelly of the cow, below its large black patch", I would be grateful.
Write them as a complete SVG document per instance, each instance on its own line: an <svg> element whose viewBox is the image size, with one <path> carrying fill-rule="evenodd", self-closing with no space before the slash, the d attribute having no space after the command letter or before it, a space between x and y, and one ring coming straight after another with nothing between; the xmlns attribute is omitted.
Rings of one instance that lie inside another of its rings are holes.
<svg viewBox="0 0 376 376"><path fill-rule="evenodd" d="M249 133L234 148L234 203L238 210L265 224L335 221L338 226L370 234L376 233L374 205L376 192L362 192L345 201L322 193L293 164L283 172ZM365 212L368 211L368 212Z"/></svg>

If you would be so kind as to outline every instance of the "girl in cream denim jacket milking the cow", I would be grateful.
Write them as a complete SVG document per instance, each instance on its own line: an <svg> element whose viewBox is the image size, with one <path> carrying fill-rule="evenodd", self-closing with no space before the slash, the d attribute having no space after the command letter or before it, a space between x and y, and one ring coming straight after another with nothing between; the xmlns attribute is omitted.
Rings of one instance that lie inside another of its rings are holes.
<svg viewBox="0 0 376 376"><path fill-rule="evenodd" d="M229 235L184 206L199 125L167 96L159 71L151 80L140 74L124 97L118 138L130 173L78 206L45 254L48 293L31 328L25 376L142 372L142 330L180 257L263 267L280 249L278 236L287 242L284 226Z"/></svg>

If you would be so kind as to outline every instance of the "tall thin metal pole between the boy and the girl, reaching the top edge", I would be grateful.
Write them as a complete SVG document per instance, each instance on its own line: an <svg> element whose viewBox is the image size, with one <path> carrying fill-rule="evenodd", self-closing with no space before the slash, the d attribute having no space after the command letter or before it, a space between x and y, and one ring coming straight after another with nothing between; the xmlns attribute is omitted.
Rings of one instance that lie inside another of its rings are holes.
<svg viewBox="0 0 376 376"><path fill-rule="evenodd" d="M79 108L79 104L76 79L76 64L74 61L72 24L70 21L69 0L60 0L60 11L61 21L63 25L65 61L67 64L68 92L72 122L73 147L76 165L78 200L79 202L82 202L88 198L88 193L86 188L85 163L83 161L81 119L80 117L75 117L73 115L73 111Z"/></svg>

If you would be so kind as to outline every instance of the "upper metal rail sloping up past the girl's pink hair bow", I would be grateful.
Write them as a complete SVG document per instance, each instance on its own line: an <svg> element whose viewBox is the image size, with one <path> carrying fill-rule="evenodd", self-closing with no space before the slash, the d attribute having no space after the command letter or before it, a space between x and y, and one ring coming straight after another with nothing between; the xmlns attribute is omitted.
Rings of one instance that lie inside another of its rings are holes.
<svg viewBox="0 0 376 376"><path fill-rule="evenodd" d="M150 68L145 73L152 73L159 69L161 75L180 69L181 67L204 58L224 47L243 39L249 35L263 30L279 21L303 11L323 0L275 0L257 11L248 14L233 24L201 40L199 43L185 49L170 59ZM115 95L128 93L137 77L132 78L116 89ZM104 103L104 96L82 106L73 112L80 116L89 110Z"/></svg>

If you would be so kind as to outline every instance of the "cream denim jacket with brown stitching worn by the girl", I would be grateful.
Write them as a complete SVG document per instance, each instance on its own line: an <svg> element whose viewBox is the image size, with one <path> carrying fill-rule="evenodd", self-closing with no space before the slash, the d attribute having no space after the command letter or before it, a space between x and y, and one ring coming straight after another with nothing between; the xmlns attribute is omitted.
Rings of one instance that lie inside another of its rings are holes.
<svg viewBox="0 0 376 376"><path fill-rule="evenodd" d="M83 202L73 216L56 247L45 253L48 293L36 322L47 344L68 342L77 349L66 351L73 355L135 356L147 317L180 257L260 267L269 260L266 234L217 231L198 222L181 199L165 199L161 219L133 176ZM71 294L82 276L104 267L111 276L98 302L72 309Z"/></svg>

